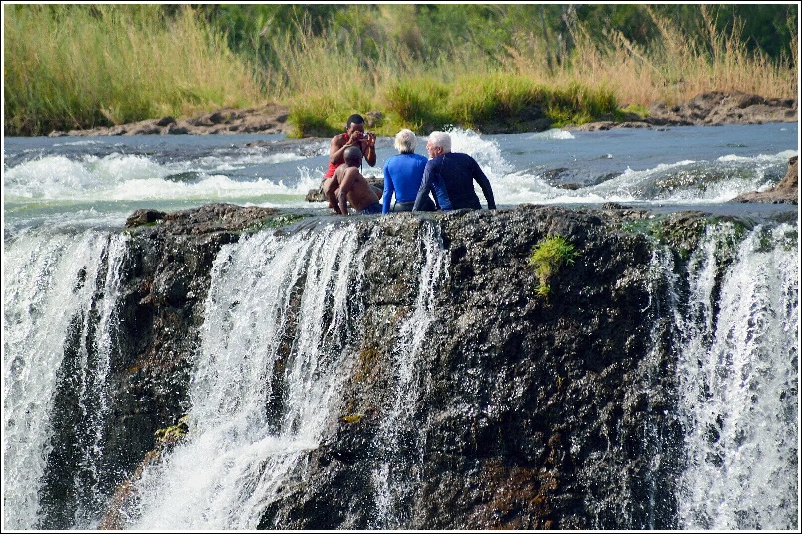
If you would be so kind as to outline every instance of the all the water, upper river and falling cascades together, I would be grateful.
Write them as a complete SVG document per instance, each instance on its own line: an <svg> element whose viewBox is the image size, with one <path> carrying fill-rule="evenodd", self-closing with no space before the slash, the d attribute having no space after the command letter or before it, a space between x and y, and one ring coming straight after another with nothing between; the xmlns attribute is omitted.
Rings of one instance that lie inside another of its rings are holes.
<svg viewBox="0 0 802 534"><path fill-rule="evenodd" d="M655 263L673 314L675 416L684 439L675 496L680 527L797 526L796 207L727 204L780 180L788 157L797 153L797 136L792 123L507 136L452 131L454 151L480 162L500 207L617 201L655 211L734 213L755 223L741 234L731 224L712 225L684 270L665 254ZM244 146L253 141L273 144ZM98 523L106 497L97 485L105 380L126 249L117 230L125 218L136 208L168 211L209 202L324 214L322 204L303 196L318 184L327 148L328 140L286 142L282 136L6 139L4 528L42 527L59 515L40 495L66 372L83 427L75 431L79 454L70 490L78 504L59 526ZM395 153L391 140L379 140L377 152L376 168L364 169L368 175L379 175L383 160ZM424 152L422 143L418 152ZM437 228L424 230L420 284L401 328L408 335L391 350L396 400L380 421L377 439L387 455L374 474L372 527L403 528L401 511L411 498L415 466L397 465L393 443L426 394L426 377L415 362L436 322L435 296L448 261ZM306 451L318 447L337 402L340 364L354 342L363 301L346 289L359 280L370 246L355 253L347 227L327 234L263 232L226 245L213 268L192 371L192 439L145 471L130 527L257 526ZM296 329L295 356L286 364L281 430L270 431L275 423L266 419L271 382L265 372L281 358L287 328ZM404 436L404 443L423 447L417 439ZM199 464L207 468L197 470Z"/></svg>

